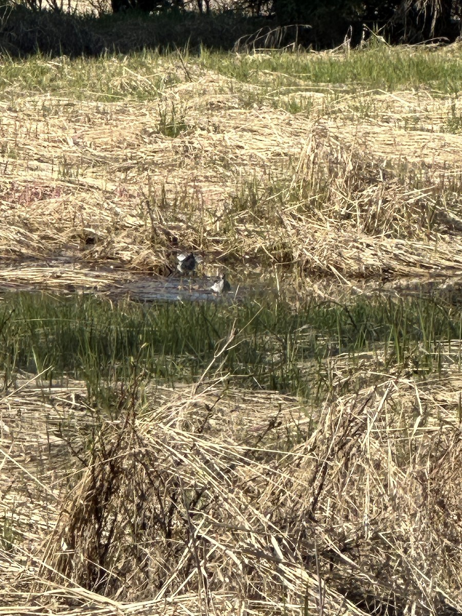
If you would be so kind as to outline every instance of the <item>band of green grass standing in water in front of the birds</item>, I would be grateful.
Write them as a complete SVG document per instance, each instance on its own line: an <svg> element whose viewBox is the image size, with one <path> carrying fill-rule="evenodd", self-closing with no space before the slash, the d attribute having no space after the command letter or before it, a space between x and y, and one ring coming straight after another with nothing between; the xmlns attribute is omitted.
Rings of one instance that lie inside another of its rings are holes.
<svg viewBox="0 0 462 616"><path fill-rule="evenodd" d="M232 344L217 356L231 331ZM312 301L295 312L271 298L113 304L18 293L0 306L0 367L5 386L24 370L43 379L84 379L95 394L134 375L194 382L212 365L209 375L308 399L329 387L328 357L345 354L354 365L368 353L371 369L378 362L381 371L429 373L440 369L438 349L461 332L461 311L432 299Z"/></svg>

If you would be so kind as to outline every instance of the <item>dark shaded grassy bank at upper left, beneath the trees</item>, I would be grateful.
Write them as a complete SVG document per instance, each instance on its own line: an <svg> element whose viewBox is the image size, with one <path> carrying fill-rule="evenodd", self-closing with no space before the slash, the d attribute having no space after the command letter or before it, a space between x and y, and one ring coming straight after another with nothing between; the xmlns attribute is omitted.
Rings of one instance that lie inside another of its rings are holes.
<svg viewBox="0 0 462 616"><path fill-rule="evenodd" d="M12 57L37 52L76 57L142 49L165 52L175 47L226 51L241 37L274 27L264 17L232 12L199 15L170 10L147 15L132 10L97 17L4 6L0 7L0 52Z"/></svg>

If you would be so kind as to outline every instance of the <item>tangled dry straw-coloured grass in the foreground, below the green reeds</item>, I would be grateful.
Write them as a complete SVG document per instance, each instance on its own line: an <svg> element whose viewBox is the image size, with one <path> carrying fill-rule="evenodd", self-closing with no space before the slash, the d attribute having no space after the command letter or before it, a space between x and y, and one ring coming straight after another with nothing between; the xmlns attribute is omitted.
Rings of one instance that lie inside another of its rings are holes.
<svg viewBox="0 0 462 616"><path fill-rule="evenodd" d="M458 373L385 378L311 416L221 383L160 389L99 429L81 384L28 387L2 405L2 510L22 547L2 552L1 614L462 609Z"/></svg>

